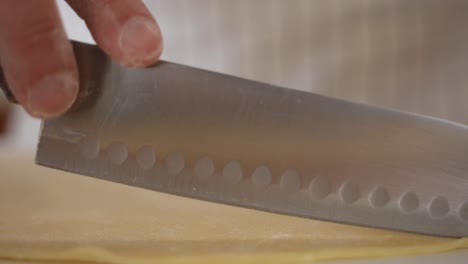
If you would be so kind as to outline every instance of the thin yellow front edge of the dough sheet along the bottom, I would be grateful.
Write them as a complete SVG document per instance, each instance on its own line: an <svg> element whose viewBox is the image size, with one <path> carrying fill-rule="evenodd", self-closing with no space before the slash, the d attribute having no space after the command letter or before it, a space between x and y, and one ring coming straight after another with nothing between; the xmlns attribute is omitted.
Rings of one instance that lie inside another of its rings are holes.
<svg viewBox="0 0 468 264"><path fill-rule="evenodd" d="M388 248L353 247L319 249L298 252L262 252L248 254L193 254L183 256L125 256L98 247L75 247L63 251L37 250L34 248L0 248L0 259L13 261L60 261L90 263L135 263L149 264L155 261L164 263L311 263L332 260L369 259L399 256L427 255L468 249L468 238L437 241L413 246Z"/></svg>

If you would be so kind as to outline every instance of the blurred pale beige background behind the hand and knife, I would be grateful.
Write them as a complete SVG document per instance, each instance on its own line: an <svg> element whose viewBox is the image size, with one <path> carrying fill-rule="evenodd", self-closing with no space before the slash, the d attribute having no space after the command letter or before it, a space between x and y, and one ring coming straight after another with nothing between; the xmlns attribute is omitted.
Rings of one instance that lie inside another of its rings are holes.
<svg viewBox="0 0 468 264"><path fill-rule="evenodd" d="M70 38L94 43L58 1ZM468 1L151 0L163 59L468 124ZM40 122L0 99L0 156Z"/></svg>

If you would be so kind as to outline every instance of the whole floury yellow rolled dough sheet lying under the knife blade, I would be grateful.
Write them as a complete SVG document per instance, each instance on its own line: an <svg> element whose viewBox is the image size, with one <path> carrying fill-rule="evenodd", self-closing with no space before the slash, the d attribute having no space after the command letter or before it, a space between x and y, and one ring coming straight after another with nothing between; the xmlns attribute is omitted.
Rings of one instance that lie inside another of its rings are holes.
<svg viewBox="0 0 468 264"><path fill-rule="evenodd" d="M306 263L468 248L443 239L201 202L0 161L0 259Z"/></svg>

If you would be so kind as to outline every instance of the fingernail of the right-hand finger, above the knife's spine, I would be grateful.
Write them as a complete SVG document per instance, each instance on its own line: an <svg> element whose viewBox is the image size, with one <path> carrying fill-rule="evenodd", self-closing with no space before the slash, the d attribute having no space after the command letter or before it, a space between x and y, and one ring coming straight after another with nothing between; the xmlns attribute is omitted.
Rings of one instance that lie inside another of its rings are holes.
<svg viewBox="0 0 468 264"><path fill-rule="evenodd" d="M143 66L156 61L162 50L158 26L145 17L130 19L120 32L120 49L130 66Z"/></svg>

